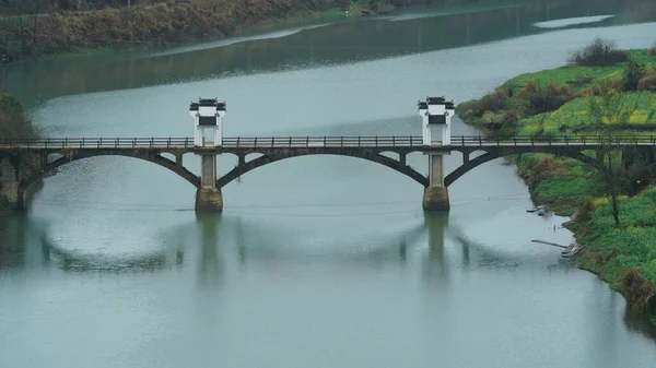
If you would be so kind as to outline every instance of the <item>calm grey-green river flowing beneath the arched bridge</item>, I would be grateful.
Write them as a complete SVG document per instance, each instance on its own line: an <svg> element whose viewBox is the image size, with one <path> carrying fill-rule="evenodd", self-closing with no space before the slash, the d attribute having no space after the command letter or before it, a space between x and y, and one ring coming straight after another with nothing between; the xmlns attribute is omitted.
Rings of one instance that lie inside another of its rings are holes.
<svg viewBox="0 0 656 368"><path fill-rule="evenodd" d="M419 134L426 95L481 96L595 36L651 46L656 8L621 3L319 20L17 66L2 87L49 136L191 135L199 96L227 102L231 136ZM426 171L421 155L409 163ZM396 171L300 157L229 185L211 215L149 163L63 166L0 233L0 367L654 367L653 330L622 296L530 242L572 235L566 218L526 213L515 173L482 165L449 188L448 214L427 214Z"/></svg>

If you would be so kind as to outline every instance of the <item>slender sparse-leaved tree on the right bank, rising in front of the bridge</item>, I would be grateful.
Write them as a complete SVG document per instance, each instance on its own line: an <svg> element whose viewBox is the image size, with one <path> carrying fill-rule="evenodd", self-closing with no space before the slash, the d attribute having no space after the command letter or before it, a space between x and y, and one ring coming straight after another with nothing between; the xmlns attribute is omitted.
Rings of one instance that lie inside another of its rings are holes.
<svg viewBox="0 0 656 368"><path fill-rule="evenodd" d="M600 127L599 147L597 149L597 161L600 165L600 177L604 180L606 191L610 195L611 213L616 226L620 226L620 206L618 195L625 187L625 173L621 164L618 163L618 152L623 153L613 146L613 143L621 140L622 134L613 130L613 123L629 121L631 109L625 107L624 95L617 91L610 91L600 97L589 98L590 116L594 123Z"/></svg>

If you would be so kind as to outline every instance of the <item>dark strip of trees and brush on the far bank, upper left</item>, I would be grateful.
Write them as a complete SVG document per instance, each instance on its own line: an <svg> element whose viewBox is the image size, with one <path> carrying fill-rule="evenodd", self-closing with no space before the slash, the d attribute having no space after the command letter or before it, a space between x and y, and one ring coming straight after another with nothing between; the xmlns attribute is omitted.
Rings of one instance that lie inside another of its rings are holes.
<svg viewBox="0 0 656 368"><path fill-rule="evenodd" d="M499 0L0 0L0 63L82 49L185 43L307 12Z"/></svg>

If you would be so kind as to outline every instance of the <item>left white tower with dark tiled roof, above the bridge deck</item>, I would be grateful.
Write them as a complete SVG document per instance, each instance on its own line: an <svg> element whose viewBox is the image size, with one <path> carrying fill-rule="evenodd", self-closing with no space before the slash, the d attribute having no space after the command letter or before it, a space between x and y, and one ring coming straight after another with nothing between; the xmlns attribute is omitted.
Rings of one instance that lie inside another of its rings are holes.
<svg viewBox="0 0 656 368"><path fill-rule="evenodd" d="M199 98L191 103L189 115L194 118L194 145L220 147L223 143L223 117L225 103L218 98Z"/></svg>

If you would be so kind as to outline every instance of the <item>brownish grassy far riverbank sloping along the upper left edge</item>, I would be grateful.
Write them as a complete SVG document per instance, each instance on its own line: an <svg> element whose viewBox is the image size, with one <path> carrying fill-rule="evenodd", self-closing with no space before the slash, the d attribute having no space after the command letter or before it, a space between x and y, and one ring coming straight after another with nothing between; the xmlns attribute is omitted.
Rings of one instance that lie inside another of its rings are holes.
<svg viewBox="0 0 656 368"><path fill-rule="evenodd" d="M459 0L447 1L446 4ZM52 55L106 52L117 48L157 47L235 36L243 28L317 16L386 13L425 0L262 0L154 1L131 8L57 11L0 19L0 64ZM87 4L86 8L91 8ZM85 8L85 9L86 9ZM16 8L14 11L19 11ZM25 13L25 10L22 10Z"/></svg>

